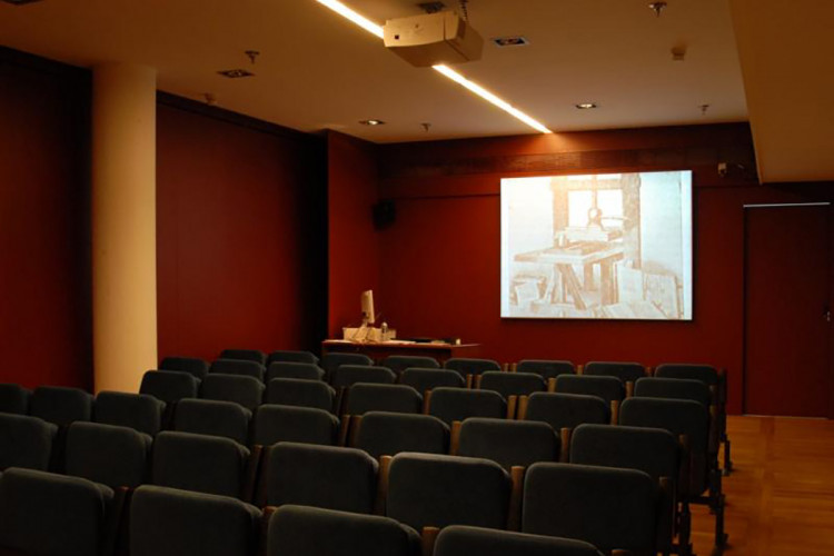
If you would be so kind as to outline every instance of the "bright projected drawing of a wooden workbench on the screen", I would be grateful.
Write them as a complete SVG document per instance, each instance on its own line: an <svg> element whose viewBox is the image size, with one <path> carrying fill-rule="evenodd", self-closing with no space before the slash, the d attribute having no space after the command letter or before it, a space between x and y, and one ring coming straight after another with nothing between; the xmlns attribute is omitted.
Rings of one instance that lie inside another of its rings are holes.
<svg viewBox="0 0 834 556"><path fill-rule="evenodd" d="M502 179L504 318L692 320L692 172Z"/></svg>

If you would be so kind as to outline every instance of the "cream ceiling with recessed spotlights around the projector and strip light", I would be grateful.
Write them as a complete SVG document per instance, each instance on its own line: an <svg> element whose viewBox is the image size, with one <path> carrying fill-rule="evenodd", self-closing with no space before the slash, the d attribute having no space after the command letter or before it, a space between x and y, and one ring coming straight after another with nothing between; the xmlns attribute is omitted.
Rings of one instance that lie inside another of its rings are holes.
<svg viewBox="0 0 834 556"><path fill-rule="evenodd" d="M747 102L758 108L759 100L745 97L743 75L758 77L742 72L729 3L738 19L753 4L785 2L667 0L656 18L648 1L470 0L469 21L485 39L523 34L530 44L487 42L481 60L456 69L557 132L746 121ZM409 0L346 3L379 23L420 13ZM446 4L456 8L457 0ZM759 29L759 21L752 26ZM199 100L210 92L222 108L301 131L329 128L375 142L533 132L431 69L409 66L315 0L0 3L0 41L81 67L152 66L163 91ZM685 61L672 60L673 47L686 48ZM261 52L255 64L244 53L250 49ZM238 67L257 76L217 75ZM584 101L599 108L574 108ZM705 113L702 105L709 105ZM367 118L387 125L358 123ZM753 129L758 148L771 131L756 121Z"/></svg>

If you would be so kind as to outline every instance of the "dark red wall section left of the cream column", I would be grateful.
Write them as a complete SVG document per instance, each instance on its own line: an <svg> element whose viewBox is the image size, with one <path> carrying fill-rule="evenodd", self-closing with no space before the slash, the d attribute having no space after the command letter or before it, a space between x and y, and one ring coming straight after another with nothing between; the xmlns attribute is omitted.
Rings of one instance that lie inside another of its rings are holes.
<svg viewBox="0 0 834 556"><path fill-rule="evenodd" d="M89 388L89 76L0 49L0 383Z"/></svg>

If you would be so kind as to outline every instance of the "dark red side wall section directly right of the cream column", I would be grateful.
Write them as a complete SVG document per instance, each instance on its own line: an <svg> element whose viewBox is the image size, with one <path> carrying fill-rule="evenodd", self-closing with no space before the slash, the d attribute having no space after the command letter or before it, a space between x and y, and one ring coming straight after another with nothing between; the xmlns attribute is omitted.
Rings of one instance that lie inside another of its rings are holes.
<svg viewBox="0 0 834 556"><path fill-rule="evenodd" d="M320 141L170 105L157 118L160 358L315 347L325 288Z"/></svg>

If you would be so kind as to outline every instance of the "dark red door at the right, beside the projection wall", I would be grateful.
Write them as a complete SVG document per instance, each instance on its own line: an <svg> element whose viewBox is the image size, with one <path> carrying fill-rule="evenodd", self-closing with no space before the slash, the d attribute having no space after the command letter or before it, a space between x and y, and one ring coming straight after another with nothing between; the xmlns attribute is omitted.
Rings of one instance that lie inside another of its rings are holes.
<svg viewBox="0 0 834 556"><path fill-rule="evenodd" d="M830 216L745 207L744 413L834 417Z"/></svg>

